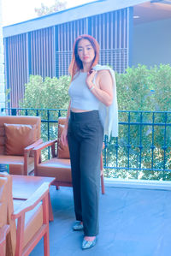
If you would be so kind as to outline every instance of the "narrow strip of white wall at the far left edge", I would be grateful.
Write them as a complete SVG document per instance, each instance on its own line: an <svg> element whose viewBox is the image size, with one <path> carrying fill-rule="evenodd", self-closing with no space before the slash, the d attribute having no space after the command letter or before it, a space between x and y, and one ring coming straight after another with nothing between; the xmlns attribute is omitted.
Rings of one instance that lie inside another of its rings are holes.
<svg viewBox="0 0 171 256"><path fill-rule="evenodd" d="M3 63L4 63L4 59L3 59L2 0L0 0L0 109L5 106Z"/></svg>

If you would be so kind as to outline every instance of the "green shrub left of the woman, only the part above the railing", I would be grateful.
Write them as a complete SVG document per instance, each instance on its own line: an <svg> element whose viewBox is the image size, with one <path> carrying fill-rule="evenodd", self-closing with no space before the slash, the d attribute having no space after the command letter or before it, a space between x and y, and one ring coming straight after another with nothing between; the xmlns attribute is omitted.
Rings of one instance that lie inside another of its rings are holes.
<svg viewBox="0 0 171 256"><path fill-rule="evenodd" d="M21 102L22 108L34 109L68 109L68 85L70 77L61 76L43 78L31 75L25 85L25 97Z"/></svg>

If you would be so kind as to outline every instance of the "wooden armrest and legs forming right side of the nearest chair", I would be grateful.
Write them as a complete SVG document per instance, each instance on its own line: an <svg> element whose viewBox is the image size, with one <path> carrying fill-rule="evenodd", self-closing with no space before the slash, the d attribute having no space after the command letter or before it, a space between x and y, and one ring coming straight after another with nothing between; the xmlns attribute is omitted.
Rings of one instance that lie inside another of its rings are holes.
<svg viewBox="0 0 171 256"><path fill-rule="evenodd" d="M12 213L11 219L18 219L16 228L15 256L29 255L42 237L44 237L44 256L50 255L48 193L49 183L44 182L29 199L25 200L21 206ZM42 201L43 205L43 225L41 229L39 229L38 232L32 236L32 239L27 243L27 246L23 247L25 214L27 211L31 211L36 205L38 205L40 201Z"/></svg>

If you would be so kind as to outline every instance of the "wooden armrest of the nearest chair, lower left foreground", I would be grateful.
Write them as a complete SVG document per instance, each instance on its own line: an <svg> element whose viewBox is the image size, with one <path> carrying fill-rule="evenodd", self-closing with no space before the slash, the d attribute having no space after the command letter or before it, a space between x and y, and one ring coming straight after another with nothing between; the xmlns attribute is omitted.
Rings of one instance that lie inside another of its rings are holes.
<svg viewBox="0 0 171 256"><path fill-rule="evenodd" d="M38 203L44 199L49 193L49 182L44 182L33 194L32 196L24 201L19 209L17 209L12 214L12 219L21 217L21 215L27 211L31 211Z"/></svg>

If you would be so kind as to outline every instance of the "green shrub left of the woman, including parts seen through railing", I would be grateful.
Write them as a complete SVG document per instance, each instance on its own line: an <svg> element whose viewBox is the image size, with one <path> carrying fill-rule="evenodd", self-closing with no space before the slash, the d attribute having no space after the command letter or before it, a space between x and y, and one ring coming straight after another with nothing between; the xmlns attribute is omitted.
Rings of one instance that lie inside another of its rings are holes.
<svg viewBox="0 0 171 256"><path fill-rule="evenodd" d="M21 108L32 109L68 109L69 96L68 86L70 82L69 76L61 76L59 79L56 77L43 78L40 75L31 75L30 81L25 85L25 97L20 103ZM21 114L25 115L24 110ZM36 111L29 110L28 115L36 116ZM62 112L66 116L66 111ZM56 110L50 111L49 116L47 111L38 110L38 116L42 120L57 121L58 112ZM44 141L54 140L57 138L57 123L51 122L48 124L43 122L41 125L41 137ZM47 152L44 152L44 157L47 158Z"/></svg>

